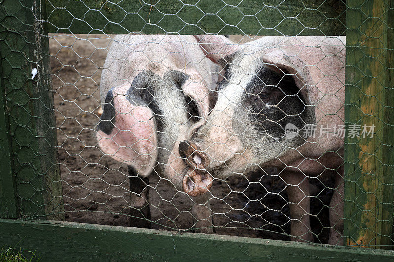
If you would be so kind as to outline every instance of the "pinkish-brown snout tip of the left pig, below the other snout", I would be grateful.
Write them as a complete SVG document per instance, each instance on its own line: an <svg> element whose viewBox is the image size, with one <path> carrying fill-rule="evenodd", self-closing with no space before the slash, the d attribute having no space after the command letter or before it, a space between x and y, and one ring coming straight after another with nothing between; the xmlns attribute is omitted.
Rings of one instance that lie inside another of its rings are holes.
<svg viewBox="0 0 394 262"><path fill-rule="evenodd" d="M194 170L183 178L182 189L191 197L200 196L211 188L212 182L211 175Z"/></svg>

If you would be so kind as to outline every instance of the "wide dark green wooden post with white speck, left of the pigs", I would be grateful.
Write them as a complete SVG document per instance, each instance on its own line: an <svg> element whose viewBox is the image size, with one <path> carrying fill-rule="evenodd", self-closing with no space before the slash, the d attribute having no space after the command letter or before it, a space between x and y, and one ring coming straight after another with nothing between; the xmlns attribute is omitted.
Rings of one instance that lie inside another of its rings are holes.
<svg viewBox="0 0 394 262"><path fill-rule="evenodd" d="M2 1L1 86L5 89L20 214L22 218L63 219L49 43L42 22L45 13L40 0ZM34 68L37 75L32 79ZM4 101L3 93L1 99ZM11 185L10 179L8 175Z"/></svg>

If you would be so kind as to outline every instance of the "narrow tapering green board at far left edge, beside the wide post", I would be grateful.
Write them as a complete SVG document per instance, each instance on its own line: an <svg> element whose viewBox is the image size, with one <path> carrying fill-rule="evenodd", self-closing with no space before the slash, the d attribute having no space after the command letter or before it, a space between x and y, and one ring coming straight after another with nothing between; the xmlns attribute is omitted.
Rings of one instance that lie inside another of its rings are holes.
<svg viewBox="0 0 394 262"><path fill-rule="evenodd" d="M0 15L0 20L3 17ZM11 138L5 105L5 89L0 59L0 217L17 218L15 177L11 161Z"/></svg>

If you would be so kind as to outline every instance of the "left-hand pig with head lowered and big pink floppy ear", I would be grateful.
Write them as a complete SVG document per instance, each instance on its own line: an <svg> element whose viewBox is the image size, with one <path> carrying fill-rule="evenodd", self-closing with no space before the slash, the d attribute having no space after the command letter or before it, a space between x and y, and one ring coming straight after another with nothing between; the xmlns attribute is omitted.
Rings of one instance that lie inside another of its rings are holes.
<svg viewBox="0 0 394 262"><path fill-rule="evenodd" d="M178 146L205 123L217 68L193 36L118 35L100 85L103 113L96 137L102 152L141 178L157 172L191 196L202 233L213 232L209 203L200 197L213 178L187 166Z"/></svg>

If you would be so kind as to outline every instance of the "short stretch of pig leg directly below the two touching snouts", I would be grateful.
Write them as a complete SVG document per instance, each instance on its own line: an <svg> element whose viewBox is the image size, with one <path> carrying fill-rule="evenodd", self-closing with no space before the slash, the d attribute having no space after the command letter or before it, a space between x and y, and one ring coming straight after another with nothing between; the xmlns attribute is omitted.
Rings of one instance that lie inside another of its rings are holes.
<svg viewBox="0 0 394 262"><path fill-rule="evenodd" d="M212 211L209 204L209 195L204 194L192 197L192 216L197 233L213 234Z"/></svg>

